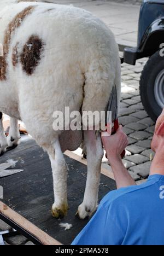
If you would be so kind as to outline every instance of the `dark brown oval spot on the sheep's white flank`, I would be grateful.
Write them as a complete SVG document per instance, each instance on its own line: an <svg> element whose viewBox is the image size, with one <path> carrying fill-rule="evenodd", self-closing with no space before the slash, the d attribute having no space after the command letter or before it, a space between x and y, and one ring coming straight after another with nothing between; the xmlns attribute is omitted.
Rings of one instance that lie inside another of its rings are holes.
<svg viewBox="0 0 164 256"><path fill-rule="evenodd" d="M38 36L31 36L27 43L24 45L21 54L21 63L23 70L31 75L34 69L38 66L40 61L40 55L43 51L43 41Z"/></svg>

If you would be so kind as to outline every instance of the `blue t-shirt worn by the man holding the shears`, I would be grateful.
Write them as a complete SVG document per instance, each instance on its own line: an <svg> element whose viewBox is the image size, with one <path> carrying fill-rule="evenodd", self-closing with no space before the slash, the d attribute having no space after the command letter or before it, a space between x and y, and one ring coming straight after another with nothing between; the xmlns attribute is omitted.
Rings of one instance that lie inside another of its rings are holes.
<svg viewBox="0 0 164 256"><path fill-rule="evenodd" d="M164 245L164 176L107 194L72 245Z"/></svg>

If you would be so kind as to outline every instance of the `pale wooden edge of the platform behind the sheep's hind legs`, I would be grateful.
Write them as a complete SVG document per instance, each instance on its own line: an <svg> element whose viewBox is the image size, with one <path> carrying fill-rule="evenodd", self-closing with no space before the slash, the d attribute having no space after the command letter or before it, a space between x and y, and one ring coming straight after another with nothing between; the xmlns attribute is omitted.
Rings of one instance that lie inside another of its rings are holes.
<svg viewBox="0 0 164 256"><path fill-rule="evenodd" d="M81 156L79 156L79 155L77 155L77 154L75 154L75 153L73 153L73 152L71 152L71 151L69 151L69 150L67 150L67 151L65 152L65 155L67 155L69 158L72 158L72 159L74 159L74 160L80 162L81 164L84 164L84 165L87 166L87 161L86 161L86 159L81 158ZM112 171L109 171L108 169L106 169L106 168L104 168L104 167L101 167L101 173L102 173L103 175L107 176L108 178L113 179L113 180L115 181L114 174L113 174Z"/></svg>

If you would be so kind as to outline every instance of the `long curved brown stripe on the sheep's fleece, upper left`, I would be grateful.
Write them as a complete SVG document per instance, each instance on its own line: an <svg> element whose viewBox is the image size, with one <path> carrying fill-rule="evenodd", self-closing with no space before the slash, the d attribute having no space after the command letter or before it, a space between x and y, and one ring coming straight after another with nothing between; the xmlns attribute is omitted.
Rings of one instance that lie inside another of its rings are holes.
<svg viewBox="0 0 164 256"><path fill-rule="evenodd" d="M6 79L6 72L7 72L7 56L9 53L9 47L10 47L10 41L11 36L16 30L16 28L20 27L22 24L22 21L26 18L28 14L32 13L32 10L35 7L30 5L24 10L22 10L20 13L18 13L14 19L9 23L7 30L5 30L4 34L4 42L3 42L3 52L4 56L0 59L0 80Z"/></svg>

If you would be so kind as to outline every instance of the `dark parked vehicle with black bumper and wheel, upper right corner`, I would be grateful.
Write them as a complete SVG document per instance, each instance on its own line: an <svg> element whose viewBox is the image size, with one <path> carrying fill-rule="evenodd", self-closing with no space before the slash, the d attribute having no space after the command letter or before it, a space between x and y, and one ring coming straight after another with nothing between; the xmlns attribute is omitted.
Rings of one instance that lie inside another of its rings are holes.
<svg viewBox="0 0 164 256"><path fill-rule="evenodd" d="M156 121L164 108L164 0L144 0L140 8L136 48L125 48L131 65L149 57L140 78L140 96L149 116Z"/></svg>

